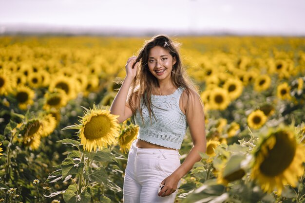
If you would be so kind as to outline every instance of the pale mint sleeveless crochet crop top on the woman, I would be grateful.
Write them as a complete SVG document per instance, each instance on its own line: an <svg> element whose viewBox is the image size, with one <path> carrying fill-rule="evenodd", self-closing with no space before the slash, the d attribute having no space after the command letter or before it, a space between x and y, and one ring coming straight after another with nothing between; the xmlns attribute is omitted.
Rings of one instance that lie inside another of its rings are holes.
<svg viewBox="0 0 305 203"><path fill-rule="evenodd" d="M179 99L183 88L179 87L170 95L152 95L152 115L141 100L144 123L139 110L136 110L134 121L139 126L137 138L146 142L180 149L187 130L186 115L180 110Z"/></svg>

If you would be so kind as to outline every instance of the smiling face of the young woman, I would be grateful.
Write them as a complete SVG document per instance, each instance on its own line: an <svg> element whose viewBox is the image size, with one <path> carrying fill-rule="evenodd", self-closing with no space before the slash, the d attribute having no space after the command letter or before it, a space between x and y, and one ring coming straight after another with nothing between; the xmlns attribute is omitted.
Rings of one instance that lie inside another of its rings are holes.
<svg viewBox="0 0 305 203"><path fill-rule="evenodd" d="M170 79L176 59L166 49L155 46L148 54L148 68L158 80Z"/></svg>

